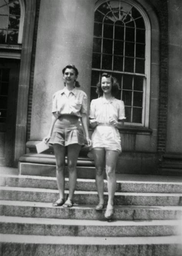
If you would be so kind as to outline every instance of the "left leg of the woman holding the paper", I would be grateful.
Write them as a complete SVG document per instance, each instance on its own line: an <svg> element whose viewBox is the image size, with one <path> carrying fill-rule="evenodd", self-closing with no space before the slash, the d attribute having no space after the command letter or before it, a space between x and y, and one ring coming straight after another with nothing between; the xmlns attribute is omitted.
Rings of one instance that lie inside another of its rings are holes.
<svg viewBox="0 0 182 256"><path fill-rule="evenodd" d="M60 144L53 144L56 157L56 177L60 199L64 199L65 192L65 147ZM58 200L59 201L59 200Z"/></svg>

